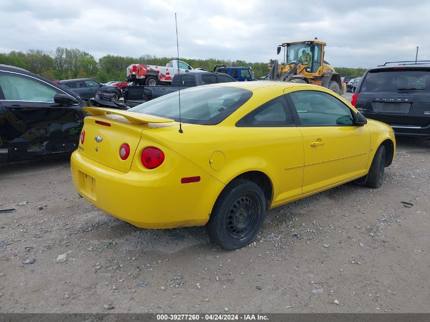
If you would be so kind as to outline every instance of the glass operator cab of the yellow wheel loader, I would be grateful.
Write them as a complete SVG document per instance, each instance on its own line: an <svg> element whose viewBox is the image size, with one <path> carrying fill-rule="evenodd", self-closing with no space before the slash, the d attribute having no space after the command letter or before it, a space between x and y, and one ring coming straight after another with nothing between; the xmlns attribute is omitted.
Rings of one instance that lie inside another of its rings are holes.
<svg viewBox="0 0 430 322"><path fill-rule="evenodd" d="M283 43L278 46L277 52L279 54L283 51L282 65L297 63L304 66L306 73L317 73L323 66L324 45L325 43L316 41Z"/></svg>

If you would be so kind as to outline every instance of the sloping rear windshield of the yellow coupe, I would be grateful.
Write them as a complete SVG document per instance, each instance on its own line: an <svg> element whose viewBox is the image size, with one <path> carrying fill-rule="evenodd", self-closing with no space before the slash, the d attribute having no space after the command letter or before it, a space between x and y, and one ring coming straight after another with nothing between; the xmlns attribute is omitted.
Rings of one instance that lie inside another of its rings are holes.
<svg viewBox="0 0 430 322"><path fill-rule="evenodd" d="M179 122L179 96L182 122L214 125L241 107L252 96L252 92L229 86L198 86L181 90L180 94L174 92L161 96L129 111Z"/></svg>

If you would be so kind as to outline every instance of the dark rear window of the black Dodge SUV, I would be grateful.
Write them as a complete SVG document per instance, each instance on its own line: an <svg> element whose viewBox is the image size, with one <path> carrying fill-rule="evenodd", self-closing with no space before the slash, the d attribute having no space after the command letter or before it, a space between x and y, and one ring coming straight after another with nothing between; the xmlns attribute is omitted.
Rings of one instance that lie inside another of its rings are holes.
<svg viewBox="0 0 430 322"><path fill-rule="evenodd" d="M430 92L430 70L390 69L369 71L360 92Z"/></svg>

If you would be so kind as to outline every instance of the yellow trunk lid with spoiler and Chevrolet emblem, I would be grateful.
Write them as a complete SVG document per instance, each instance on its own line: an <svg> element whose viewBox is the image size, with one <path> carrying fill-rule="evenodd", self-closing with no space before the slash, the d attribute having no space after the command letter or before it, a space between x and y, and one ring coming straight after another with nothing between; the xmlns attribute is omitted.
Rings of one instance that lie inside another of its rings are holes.
<svg viewBox="0 0 430 322"><path fill-rule="evenodd" d="M119 171L128 172L140 141L141 132L151 128L149 123L170 123L173 120L110 108L84 107L92 116L84 119L83 144L79 152L93 161ZM120 157L121 146L127 143L130 155Z"/></svg>

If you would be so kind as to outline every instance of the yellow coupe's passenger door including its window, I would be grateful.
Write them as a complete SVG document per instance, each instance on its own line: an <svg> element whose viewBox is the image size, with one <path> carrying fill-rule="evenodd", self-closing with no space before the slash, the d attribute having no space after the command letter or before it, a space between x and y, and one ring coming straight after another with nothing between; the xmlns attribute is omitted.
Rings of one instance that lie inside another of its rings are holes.
<svg viewBox="0 0 430 322"><path fill-rule="evenodd" d="M303 194L364 175L370 150L367 126L354 124L352 111L320 91L289 94L303 135Z"/></svg>

